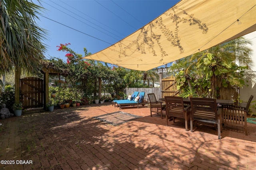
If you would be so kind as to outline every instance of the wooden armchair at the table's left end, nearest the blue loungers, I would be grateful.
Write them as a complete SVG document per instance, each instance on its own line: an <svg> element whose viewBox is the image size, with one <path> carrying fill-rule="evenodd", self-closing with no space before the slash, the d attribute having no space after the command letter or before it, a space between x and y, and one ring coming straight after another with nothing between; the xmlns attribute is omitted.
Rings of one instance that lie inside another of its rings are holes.
<svg viewBox="0 0 256 170"><path fill-rule="evenodd" d="M163 118L162 110L164 110L166 107L164 101L157 101L154 93L149 93L148 98L150 102L150 116L152 117L152 112L157 114L160 113L161 118Z"/></svg>

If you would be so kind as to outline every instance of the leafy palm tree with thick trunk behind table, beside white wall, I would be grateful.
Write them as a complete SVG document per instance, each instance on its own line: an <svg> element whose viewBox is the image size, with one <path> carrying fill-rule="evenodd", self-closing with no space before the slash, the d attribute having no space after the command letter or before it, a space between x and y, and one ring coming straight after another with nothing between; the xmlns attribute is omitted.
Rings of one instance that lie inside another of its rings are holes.
<svg viewBox="0 0 256 170"><path fill-rule="evenodd" d="M246 47L246 44L250 44L250 42L239 37L192 56L191 60L196 61L197 69L205 66L209 68L210 89L213 98L217 97L217 86L223 83L223 78L232 85L238 87L244 85L244 80L238 75L238 71L251 70L252 67L251 50ZM236 63L242 66L238 66Z"/></svg>

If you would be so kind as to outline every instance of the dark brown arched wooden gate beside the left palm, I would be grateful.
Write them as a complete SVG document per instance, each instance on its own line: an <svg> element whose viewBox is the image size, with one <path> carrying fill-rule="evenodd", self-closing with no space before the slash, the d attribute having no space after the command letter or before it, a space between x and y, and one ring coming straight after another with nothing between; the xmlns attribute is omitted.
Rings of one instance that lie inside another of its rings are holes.
<svg viewBox="0 0 256 170"><path fill-rule="evenodd" d="M37 77L22 78L20 90L24 108L44 107L44 80Z"/></svg>

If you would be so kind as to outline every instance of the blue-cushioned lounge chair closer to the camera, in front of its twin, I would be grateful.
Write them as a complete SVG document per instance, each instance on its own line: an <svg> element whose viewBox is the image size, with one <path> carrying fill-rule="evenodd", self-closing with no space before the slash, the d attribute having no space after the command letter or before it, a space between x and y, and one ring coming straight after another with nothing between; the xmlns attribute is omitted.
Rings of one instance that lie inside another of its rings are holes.
<svg viewBox="0 0 256 170"><path fill-rule="evenodd" d="M140 92L140 94L134 99L134 101L124 101L124 100L117 100L116 104L119 106L119 109L123 106L135 106L139 108L139 105L144 106L146 101L144 100L145 92Z"/></svg>

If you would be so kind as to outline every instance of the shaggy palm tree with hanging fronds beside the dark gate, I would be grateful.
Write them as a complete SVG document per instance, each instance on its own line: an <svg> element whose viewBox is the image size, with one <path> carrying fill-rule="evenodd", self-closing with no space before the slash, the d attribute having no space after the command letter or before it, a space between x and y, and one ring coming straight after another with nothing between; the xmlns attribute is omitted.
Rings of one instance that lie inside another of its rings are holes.
<svg viewBox="0 0 256 170"><path fill-rule="evenodd" d="M36 24L40 6L29 0L0 1L0 74L15 69L15 102L19 102L21 68L35 72L44 59L46 31Z"/></svg>

